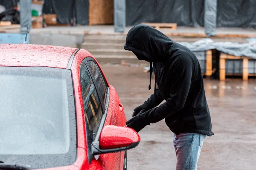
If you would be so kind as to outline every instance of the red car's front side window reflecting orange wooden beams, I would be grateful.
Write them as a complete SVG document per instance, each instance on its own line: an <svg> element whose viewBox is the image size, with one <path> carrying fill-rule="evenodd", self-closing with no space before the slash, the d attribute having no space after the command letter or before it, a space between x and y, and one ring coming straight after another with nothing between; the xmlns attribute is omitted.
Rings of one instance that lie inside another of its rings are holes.
<svg viewBox="0 0 256 170"><path fill-rule="evenodd" d="M85 62L82 62L80 68L81 92L84 105L84 118L90 132L93 133L93 139L99 128L102 119L103 107L93 81L90 71Z"/></svg>

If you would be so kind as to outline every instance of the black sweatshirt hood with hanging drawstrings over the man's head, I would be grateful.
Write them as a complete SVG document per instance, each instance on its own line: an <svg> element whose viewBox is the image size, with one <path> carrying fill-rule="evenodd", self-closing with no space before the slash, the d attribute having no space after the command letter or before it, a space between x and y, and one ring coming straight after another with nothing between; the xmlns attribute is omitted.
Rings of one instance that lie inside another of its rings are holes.
<svg viewBox="0 0 256 170"><path fill-rule="evenodd" d="M130 29L125 40L125 50L132 51L139 60L150 63L148 89L151 89L152 63L163 62L172 50L173 41L157 29L139 24ZM156 75L155 87L156 91Z"/></svg>

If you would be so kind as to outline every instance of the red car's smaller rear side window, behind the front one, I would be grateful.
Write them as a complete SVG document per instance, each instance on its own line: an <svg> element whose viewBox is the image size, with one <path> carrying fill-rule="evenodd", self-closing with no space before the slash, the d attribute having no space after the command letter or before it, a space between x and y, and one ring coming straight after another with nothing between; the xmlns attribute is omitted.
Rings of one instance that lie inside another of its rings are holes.
<svg viewBox="0 0 256 170"><path fill-rule="evenodd" d="M102 76L102 72L100 71L98 65L92 58L88 58L87 66L94 78L94 82L97 87L99 97L101 97L103 104L105 105L107 96L107 84L105 82L104 77Z"/></svg>

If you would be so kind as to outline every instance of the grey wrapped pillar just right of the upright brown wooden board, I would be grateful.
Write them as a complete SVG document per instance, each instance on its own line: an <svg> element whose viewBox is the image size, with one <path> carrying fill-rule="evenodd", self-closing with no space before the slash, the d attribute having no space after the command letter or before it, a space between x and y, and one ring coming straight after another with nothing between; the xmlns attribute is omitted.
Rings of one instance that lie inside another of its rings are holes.
<svg viewBox="0 0 256 170"><path fill-rule="evenodd" d="M115 32L125 31L125 0L114 0L114 29Z"/></svg>

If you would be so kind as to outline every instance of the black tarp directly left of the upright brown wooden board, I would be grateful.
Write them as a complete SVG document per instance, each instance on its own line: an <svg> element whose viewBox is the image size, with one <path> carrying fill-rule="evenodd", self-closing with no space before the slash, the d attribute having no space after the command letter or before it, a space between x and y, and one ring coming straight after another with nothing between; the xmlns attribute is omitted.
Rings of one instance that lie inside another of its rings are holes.
<svg viewBox="0 0 256 170"><path fill-rule="evenodd" d="M76 16L78 24L88 25L88 0L44 0L43 13L56 14L58 23L70 24Z"/></svg>

